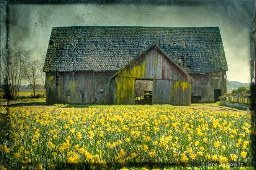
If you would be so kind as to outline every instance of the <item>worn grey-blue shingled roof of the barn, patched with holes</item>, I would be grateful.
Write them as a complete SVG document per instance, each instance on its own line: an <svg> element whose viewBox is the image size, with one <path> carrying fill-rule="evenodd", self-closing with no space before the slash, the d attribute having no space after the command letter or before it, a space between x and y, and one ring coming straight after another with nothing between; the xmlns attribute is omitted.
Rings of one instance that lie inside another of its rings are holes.
<svg viewBox="0 0 256 170"><path fill-rule="evenodd" d="M43 70L118 71L153 44L188 73L228 70L218 27L52 28Z"/></svg>

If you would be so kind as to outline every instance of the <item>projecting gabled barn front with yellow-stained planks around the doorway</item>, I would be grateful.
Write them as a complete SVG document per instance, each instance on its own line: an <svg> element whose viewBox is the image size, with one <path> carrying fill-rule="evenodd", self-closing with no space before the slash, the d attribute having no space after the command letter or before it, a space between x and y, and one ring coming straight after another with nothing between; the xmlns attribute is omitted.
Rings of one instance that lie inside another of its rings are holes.
<svg viewBox="0 0 256 170"><path fill-rule="evenodd" d="M137 79L153 81L152 103L189 105L193 78L166 53L153 45L118 71L115 78L115 103L134 104Z"/></svg>

